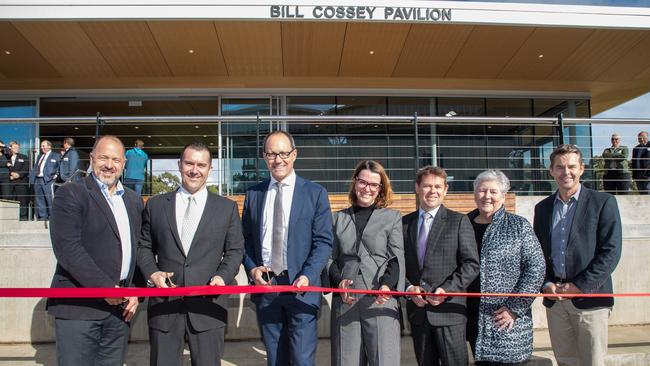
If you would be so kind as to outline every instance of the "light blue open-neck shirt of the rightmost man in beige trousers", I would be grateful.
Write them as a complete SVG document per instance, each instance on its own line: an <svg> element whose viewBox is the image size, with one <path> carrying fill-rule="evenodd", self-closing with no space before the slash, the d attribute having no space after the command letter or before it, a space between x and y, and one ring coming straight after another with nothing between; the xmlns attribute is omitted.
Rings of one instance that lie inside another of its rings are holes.
<svg viewBox="0 0 650 366"><path fill-rule="evenodd" d="M578 185L578 190L569 198L568 202L562 201L560 192L557 192L553 203L551 262L553 263L555 276L563 279L566 279L566 247L569 242L569 232L578 206L581 188L582 185Z"/></svg>

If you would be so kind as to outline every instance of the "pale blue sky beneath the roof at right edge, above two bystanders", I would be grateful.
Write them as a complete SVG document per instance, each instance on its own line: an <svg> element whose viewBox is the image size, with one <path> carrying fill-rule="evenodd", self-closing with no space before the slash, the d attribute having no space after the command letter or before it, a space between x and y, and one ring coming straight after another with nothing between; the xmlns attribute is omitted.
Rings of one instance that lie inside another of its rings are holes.
<svg viewBox="0 0 650 366"><path fill-rule="evenodd" d="M638 98L632 99L617 107L599 113L594 118L647 118L650 119L650 93L646 93ZM605 147L610 146L610 137L612 133L621 135L621 145L632 147L638 144L636 135L639 131L649 131L648 125L629 125L621 121L620 124L610 125L593 125L592 142L594 154L600 155Z"/></svg>

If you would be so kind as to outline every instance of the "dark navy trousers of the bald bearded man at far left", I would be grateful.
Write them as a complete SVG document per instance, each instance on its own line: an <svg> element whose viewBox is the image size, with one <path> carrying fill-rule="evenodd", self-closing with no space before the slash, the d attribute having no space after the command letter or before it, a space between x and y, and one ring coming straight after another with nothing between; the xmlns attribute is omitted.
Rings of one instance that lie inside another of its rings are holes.
<svg viewBox="0 0 650 366"><path fill-rule="evenodd" d="M117 312L101 320L56 318L59 366L123 365L129 343L129 323Z"/></svg>

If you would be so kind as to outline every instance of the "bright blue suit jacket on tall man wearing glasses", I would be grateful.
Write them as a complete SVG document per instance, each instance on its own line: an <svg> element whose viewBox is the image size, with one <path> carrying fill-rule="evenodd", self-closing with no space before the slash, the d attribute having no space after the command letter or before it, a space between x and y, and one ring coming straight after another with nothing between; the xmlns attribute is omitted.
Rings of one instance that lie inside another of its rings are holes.
<svg viewBox="0 0 650 366"><path fill-rule="evenodd" d="M251 187L244 200L242 226L246 247L246 274L250 274L251 269L264 265L262 218L269 183L270 180L267 179ZM288 228L289 280L293 282L298 276L304 275L309 279L310 286L320 286L321 272L332 252L332 213L325 188L296 176ZM295 296L306 304L320 306L320 293L307 292ZM257 302L260 297L261 295L252 295L251 300Z"/></svg>

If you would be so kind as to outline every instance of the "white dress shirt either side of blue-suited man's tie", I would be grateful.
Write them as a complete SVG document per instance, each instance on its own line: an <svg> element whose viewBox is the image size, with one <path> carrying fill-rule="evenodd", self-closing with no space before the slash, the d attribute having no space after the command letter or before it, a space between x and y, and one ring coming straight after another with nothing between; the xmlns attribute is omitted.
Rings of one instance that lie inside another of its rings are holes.
<svg viewBox="0 0 650 366"><path fill-rule="evenodd" d="M277 180L271 176L269 187L264 200L264 217L262 220L262 261L264 266L271 267L271 250L273 248L273 203L277 194ZM282 257L284 265L287 265L287 238L289 237L289 215L291 214L291 203L293 202L293 190L296 187L296 172L291 172L284 180L282 187L282 212L284 226L284 238L282 239ZM285 268L286 269L286 268Z"/></svg>

